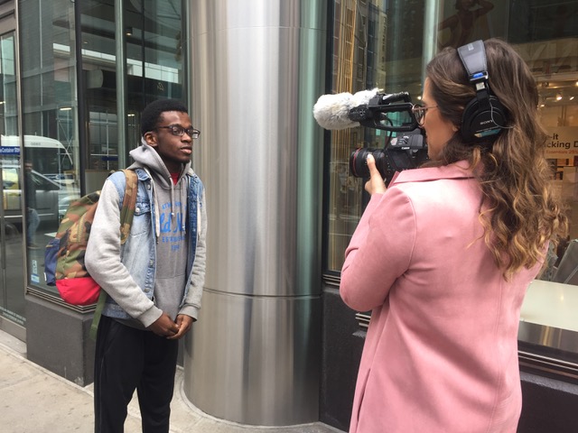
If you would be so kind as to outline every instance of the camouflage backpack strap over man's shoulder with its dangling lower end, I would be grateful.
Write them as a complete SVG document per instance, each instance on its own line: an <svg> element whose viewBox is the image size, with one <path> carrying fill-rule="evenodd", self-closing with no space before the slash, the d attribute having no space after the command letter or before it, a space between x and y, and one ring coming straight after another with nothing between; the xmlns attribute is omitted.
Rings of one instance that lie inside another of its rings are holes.
<svg viewBox="0 0 578 433"><path fill-rule="evenodd" d="M136 208L136 192L138 191L138 176L135 170L123 170L126 177L125 195L123 197L123 204L120 208L120 244L125 244L128 235L130 235L130 226L133 224L133 217L135 217ZM107 302L107 292L100 290L98 294L97 308L94 310L92 323L90 324L90 338L97 340L98 323L102 310L105 308Z"/></svg>

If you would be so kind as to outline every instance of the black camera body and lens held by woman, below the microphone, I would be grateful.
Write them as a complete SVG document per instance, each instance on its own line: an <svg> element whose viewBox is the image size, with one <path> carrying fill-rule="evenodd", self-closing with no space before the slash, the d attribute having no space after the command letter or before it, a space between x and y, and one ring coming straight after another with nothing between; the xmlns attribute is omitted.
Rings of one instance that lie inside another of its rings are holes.
<svg viewBox="0 0 578 433"><path fill-rule="evenodd" d="M368 155L376 160L376 168L386 185L396 171L415 169L428 160L424 134L417 128L406 134L398 134L385 148L362 147L350 154L350 173L356 178L368 178Z"/></svg>

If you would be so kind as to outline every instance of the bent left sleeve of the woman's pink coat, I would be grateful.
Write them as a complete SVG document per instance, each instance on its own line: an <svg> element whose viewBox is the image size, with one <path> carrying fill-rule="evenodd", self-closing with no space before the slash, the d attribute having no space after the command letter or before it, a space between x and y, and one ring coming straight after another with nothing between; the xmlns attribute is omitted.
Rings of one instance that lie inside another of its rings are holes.
<svg viewBox="0 0 578 433"><path fill-rule="evenodd" d="M351 237L341 269L340 296L351 308L383 305L409 268L415 245L415 211L399 188L374 194Z"/></svg>

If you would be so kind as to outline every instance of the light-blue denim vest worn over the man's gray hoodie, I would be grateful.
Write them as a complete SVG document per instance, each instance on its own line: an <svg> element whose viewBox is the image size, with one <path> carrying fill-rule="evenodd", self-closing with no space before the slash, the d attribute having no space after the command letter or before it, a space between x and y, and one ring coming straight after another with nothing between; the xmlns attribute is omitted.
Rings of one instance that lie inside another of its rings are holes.
<svg viewBox="0 0 578 433"><path fill-rule="evenodd" d="M156 271L156 231L154 229L154 198L151 184L151 177L143 169L136 169L138 176L138 190L136 193L135 217L130 229L130 235L126 243L121 246L121 262L135 280L136 284L144 291L148 299L154 299L154 275ZM184 288L181 305L187 298L189 286L191 284L192 264L195 259L197 249L197 239L199 233L200 207L203 185L199 177L186 175L189 183L187 191L187 209L189 224L187 232L189 236L189 252L187 254L187 283ZM108 178L113 182L122 205L125 195L125 174L117 171ZM103 309L103 314L110 318L131 317L122 309L111 297L107 297L107 302Z"/></svg>

